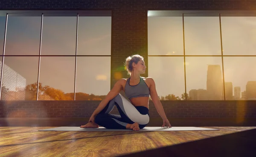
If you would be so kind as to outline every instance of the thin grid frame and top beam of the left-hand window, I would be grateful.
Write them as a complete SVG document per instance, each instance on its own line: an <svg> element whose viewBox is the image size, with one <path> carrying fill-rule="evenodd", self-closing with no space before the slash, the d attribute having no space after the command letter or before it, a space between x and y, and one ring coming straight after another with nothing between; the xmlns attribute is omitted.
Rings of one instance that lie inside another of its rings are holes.
<svg viewBox="0 0 256 157"><path fill-rule="evenodd" d="M76 70L77 70L77 57L111 57L111 55L77 55L77 46L78 46L78 23L79 23L79 17L113 17L112 16L112 9L105 9L105 10L37 10L37 11L29 11L29 10L2 10L0 11L0 16L6 17L6 24L5 24L5 31L4 31L4 41L3 41L3 53L1 53L0 57L2 57L2 67L1 67L1 80L0 80L0 99L2 94L2 83L3 83L3 65L4 65L4 57L6 56L18 56L18 57L38 57L38 85L37 85L37 97L36 100L38 100L38 86L39 86L39 74L40 74L40 61L41 57L76 57L75 61L75 74L74 74L74 100L76 100ZM8 26L8 17L9 16L15 16L15 17L40 17L41 16L41 35L40 35L40 49L38 51L38 55L5 55L5 47L6 47L6 29ZM76 17L76 54L75 55L41 55L41 41L42 41L42 29L43 29L43 22L44 22L44 16L49 17ZM112 23L112 18L111 18ZM111 26L112 27L112 26ZM112 40L111 40L112 44Z"/></svg>

